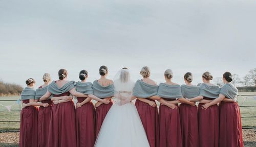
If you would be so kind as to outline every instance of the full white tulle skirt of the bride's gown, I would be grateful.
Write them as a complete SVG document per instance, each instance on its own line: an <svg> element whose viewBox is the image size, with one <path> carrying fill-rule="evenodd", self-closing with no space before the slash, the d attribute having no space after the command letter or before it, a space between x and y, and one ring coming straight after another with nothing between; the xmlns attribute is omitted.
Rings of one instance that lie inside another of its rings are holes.
<svg viewBox="0 0 256 147"><path fill-rule="evenodd" d="M145 130L133 103L113 105L97 137L96 147L146 147Z"/></svg>

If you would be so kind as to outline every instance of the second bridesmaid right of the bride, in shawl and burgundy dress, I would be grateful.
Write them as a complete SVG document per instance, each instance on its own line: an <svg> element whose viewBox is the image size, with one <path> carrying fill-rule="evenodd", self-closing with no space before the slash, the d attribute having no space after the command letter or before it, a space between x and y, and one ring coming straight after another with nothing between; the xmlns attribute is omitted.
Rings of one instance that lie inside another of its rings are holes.
<svg viewBox="0 0 256 147"><path fill-rule="evenodd" d="M179 84L172 82L173 71L167 69L164 72L165 83L160 83L157 96L164 101L176 105L176 108L169 108L160 102L159 107L159 146L182 146L180 114L178 103L183 99L181 87ZM186 101L186 100L184 100Z"/></svg>

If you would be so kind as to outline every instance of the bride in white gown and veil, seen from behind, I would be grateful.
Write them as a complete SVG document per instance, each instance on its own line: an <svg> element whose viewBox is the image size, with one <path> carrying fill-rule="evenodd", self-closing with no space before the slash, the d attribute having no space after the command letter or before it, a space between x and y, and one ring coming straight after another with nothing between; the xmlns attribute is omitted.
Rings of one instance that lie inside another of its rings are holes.
<svg viewBox="0 0 256 147"><path fill-rule="evenodd" d="M127 68L121 69L114 78L115 104L103 121L96 147L150 146L139 114L131 100L134 82Z"/></svg>

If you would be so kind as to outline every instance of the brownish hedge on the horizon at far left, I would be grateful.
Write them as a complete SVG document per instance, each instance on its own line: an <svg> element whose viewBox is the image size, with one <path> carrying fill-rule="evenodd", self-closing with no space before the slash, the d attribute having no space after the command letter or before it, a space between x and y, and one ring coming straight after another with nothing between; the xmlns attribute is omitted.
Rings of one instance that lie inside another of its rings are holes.
<svg viewBox="0 0 256 147"><path fill-rule="evenodd" d="M17 84L4 83L0 80L0 96L20 95L23 87Z"/></svg>

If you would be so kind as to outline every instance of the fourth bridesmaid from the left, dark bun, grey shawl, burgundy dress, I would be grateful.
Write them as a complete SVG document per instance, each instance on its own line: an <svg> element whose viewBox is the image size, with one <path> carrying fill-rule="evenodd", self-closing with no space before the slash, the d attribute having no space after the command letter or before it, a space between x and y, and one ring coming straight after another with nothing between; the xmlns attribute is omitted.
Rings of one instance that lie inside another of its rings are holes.
<svg viewBox="0 0 256 147"><path fill-rule="evenodd" d="M95 109L92 103L92 98L96 101L101 101L93 95L92 83L86 82L88 78L87 70L79 72L81 82L75 84L75 89L83 94L88 94L89 97L77 97L76 103L76 141L77 147L86 146L93 147L95 143ZM109 103L109 102L108 102ZM108 104L106 103L106 104Z"/></svg>

